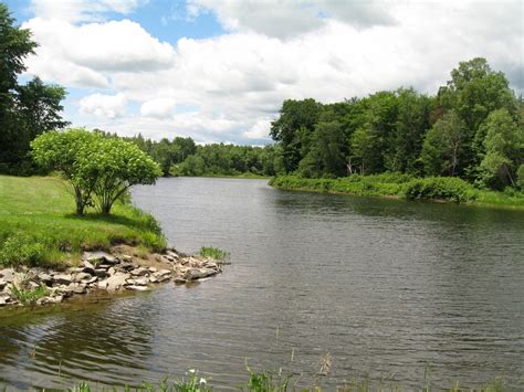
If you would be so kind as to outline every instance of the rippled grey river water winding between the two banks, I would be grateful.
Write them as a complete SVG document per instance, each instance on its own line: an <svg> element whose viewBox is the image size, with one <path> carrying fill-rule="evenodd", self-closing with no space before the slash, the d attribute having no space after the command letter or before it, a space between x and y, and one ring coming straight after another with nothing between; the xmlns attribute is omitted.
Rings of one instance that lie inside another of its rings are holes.
<svg viewBox="0 0 524 392"><path fill-rule="evenodd" d="M524 385L524 213L285 192L263 180L161 179L133 191L184 252L231 253L218 277L63 307L0 311L0 380L139 384L252 368L333 388L355 375L437 388ZM315 375L321 358L331 375ZM0 383L1 385L1 383Z"/></svg>

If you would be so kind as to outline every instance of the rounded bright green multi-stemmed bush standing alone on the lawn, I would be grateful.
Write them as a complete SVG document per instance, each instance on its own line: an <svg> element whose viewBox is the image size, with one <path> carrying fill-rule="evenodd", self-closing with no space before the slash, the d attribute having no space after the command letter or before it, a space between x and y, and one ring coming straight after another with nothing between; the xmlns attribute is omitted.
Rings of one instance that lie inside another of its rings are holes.
<svg viewBox="0 0 524 392"><path fill-rule="evenodd" d="M57 170L72 184L76 213L95 203L108 214L118 198L135 184L153 184L158 165L136 145L84 129L49 131L31 142L34 160Z"/></svg>

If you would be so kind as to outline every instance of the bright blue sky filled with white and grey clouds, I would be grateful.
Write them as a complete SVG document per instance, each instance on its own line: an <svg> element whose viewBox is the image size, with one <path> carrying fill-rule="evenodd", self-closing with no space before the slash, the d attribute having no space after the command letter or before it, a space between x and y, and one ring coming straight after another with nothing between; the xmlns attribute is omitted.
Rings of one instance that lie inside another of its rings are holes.
<svg viewBox="0 0 524 392"><path fill-rule="evenodd" d="M4 1L4 0L3 0ZM286 98L412 86L486 57L524 93L524 1L7 0L75 126L262 145Z"/></svg>

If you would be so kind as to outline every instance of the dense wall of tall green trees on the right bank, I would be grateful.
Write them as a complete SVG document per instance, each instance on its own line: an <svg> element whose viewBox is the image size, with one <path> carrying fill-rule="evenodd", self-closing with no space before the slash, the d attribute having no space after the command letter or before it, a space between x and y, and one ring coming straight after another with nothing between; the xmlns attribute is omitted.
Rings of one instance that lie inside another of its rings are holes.
<svg viewBox="0 0 524 392"><path fill-rule="evenodd" d="M524 102L484 59L462 62L437 96L412 88L321 104L285 100L271 136L304 178L401 172L518 188Z"/></svg>

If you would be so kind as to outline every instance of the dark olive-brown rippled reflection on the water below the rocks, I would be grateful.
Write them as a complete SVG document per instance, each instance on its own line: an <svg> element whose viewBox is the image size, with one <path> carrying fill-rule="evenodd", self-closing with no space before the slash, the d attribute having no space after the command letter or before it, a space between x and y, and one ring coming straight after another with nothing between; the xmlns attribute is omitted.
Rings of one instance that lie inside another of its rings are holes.
<svg viewBox="0 0 524 392"><path fill-rule="evenodd" d="M0 327L0 364L38 369L53 379L60 372L61 377L92 381L104 375L117 380L122 373L144 369L153 354L151 327L158 314L149 294L95 304L78 301L61 312ZM18 377L23 378L22 373Z"/></svg>

